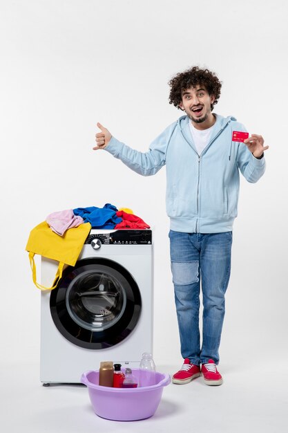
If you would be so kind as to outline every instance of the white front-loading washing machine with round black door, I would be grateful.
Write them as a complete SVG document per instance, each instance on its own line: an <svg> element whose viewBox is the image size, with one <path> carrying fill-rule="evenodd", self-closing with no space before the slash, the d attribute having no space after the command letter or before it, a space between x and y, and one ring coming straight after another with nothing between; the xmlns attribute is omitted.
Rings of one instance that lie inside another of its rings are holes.
<svg viewBox="0 0 288 433"><path fill-rule="evenodd" d="M41 258L41 284L57 263ZM41 292L40 380L80 383L102 361L138 367L153 351L152 230L91 230L75 266Z"/></svg>

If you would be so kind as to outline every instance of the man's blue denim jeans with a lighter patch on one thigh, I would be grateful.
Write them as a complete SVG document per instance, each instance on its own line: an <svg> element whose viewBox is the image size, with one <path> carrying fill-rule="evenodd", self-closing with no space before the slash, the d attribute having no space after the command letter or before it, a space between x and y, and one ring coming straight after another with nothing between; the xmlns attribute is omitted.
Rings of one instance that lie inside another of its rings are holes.
<svg viewBox="0 0 288 433"><path fill-rule="evenodd" d="M225 292L231 270L232 232L182 233L170 230L171 270L181 354L194 365L219 362ZM200 280L203 300L200 347Z"/></svg>

